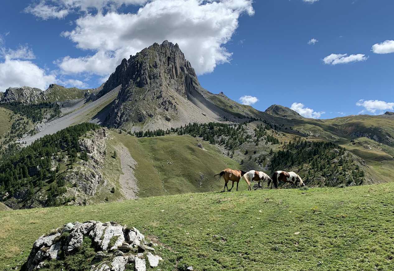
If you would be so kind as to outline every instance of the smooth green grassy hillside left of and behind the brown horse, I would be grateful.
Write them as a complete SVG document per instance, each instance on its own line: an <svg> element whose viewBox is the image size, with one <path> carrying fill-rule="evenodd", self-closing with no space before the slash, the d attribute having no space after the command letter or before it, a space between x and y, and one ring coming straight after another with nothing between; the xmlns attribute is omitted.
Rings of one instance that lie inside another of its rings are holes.
<svg viewBox="0 0 394 271"><path fill-rule="evenodd" d="M139 139L126 133L112 133L112 136L128 148L138 163L136 177L140 197L218 191L223 189L224 182L213 176L227 167L240 168L237 162L219 154L205 141L201 142L206 151L200 149L199 140L191 136ZM204 177L200 187L201 175ZM246 185L240 184L239 190L242 189L247 189Z"/></svg>

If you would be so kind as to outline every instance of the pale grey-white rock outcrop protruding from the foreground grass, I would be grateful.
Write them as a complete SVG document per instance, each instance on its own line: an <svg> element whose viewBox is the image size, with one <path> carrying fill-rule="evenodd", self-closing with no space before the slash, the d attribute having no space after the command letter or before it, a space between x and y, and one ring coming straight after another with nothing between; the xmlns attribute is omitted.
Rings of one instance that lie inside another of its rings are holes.
<svg viewBox="0 0 394 271"><path fill-rule="evenodd" d="M134 234L130 234L130 232ZM124 271L127 263L134 264L134 270L142 271L146 270L145 258L148 258L151 267L158 266L159 262L163 260L160 256L154 255L152 252L134 254L134 251L137 250L130 249L133 248L133 245L125 243L125 239L129 239L129 236L134 236L143 244L147 243L144 235L136 228L129 229L116 222L102 223L89 220L84 223L68 223L52 230L51 234L42 235L37 239L24 266L26 270L33 271L44 267L46 260L63 260L64 257L78 253L84 238L91 238L93 245L98 250L91 262L90 270L92 271ZM157 246L157 244L155 245ZM113 253L108 254L108 251Z"/></svg>

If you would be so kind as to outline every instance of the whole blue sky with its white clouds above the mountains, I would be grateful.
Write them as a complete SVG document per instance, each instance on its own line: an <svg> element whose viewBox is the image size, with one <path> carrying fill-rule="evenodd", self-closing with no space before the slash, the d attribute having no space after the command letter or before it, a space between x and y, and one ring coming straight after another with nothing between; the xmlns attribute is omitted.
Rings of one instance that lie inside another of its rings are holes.
<svg viewBox="0 0 394 271"><path fill-rule="evenodd" d="M394 111L392 10L392 0L6 1L0 91L95 88L123 58L169 40L204 88L260 111L381 114Z"/></svg>

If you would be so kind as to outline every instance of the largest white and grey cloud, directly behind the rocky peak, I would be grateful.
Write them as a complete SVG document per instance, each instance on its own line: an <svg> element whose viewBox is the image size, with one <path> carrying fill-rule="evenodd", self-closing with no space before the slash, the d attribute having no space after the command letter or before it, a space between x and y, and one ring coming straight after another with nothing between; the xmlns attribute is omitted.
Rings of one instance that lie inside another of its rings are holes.
<svg viewBox="0 0 394 271"><path fill-rule="evenodd" d="M252 0L58 0L54 3L58 3L59 10L85 11L75 21L75 28L62 35L76 43L77 48L93 52L58 59L56 64L63 74L109 75L123 58L164 40L178 43L197 74L213 72L217 64L231 60L232 53L223 45L238 28L239 17L243 13L254 14ZM40 4L48 6L47 1ZM143 6L137 13L125 14L117 10L122 4ZM93 13L91 9L99 12ZM45 13L35 15L48 18Z"/></svg>

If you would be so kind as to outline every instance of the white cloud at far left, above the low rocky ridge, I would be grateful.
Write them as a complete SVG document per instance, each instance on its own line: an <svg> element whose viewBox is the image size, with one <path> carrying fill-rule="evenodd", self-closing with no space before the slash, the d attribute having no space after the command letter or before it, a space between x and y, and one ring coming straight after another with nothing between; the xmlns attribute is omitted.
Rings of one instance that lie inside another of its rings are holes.
<svg viewBox="0 0 394 271"><path fill-rule="evenodd" d="M0 48L0 91L9 87L37 87L42 90L56 83L56 75L46 74L46 71L34 64L34 53L28 46L20 46L17 50Z"/></svg>

